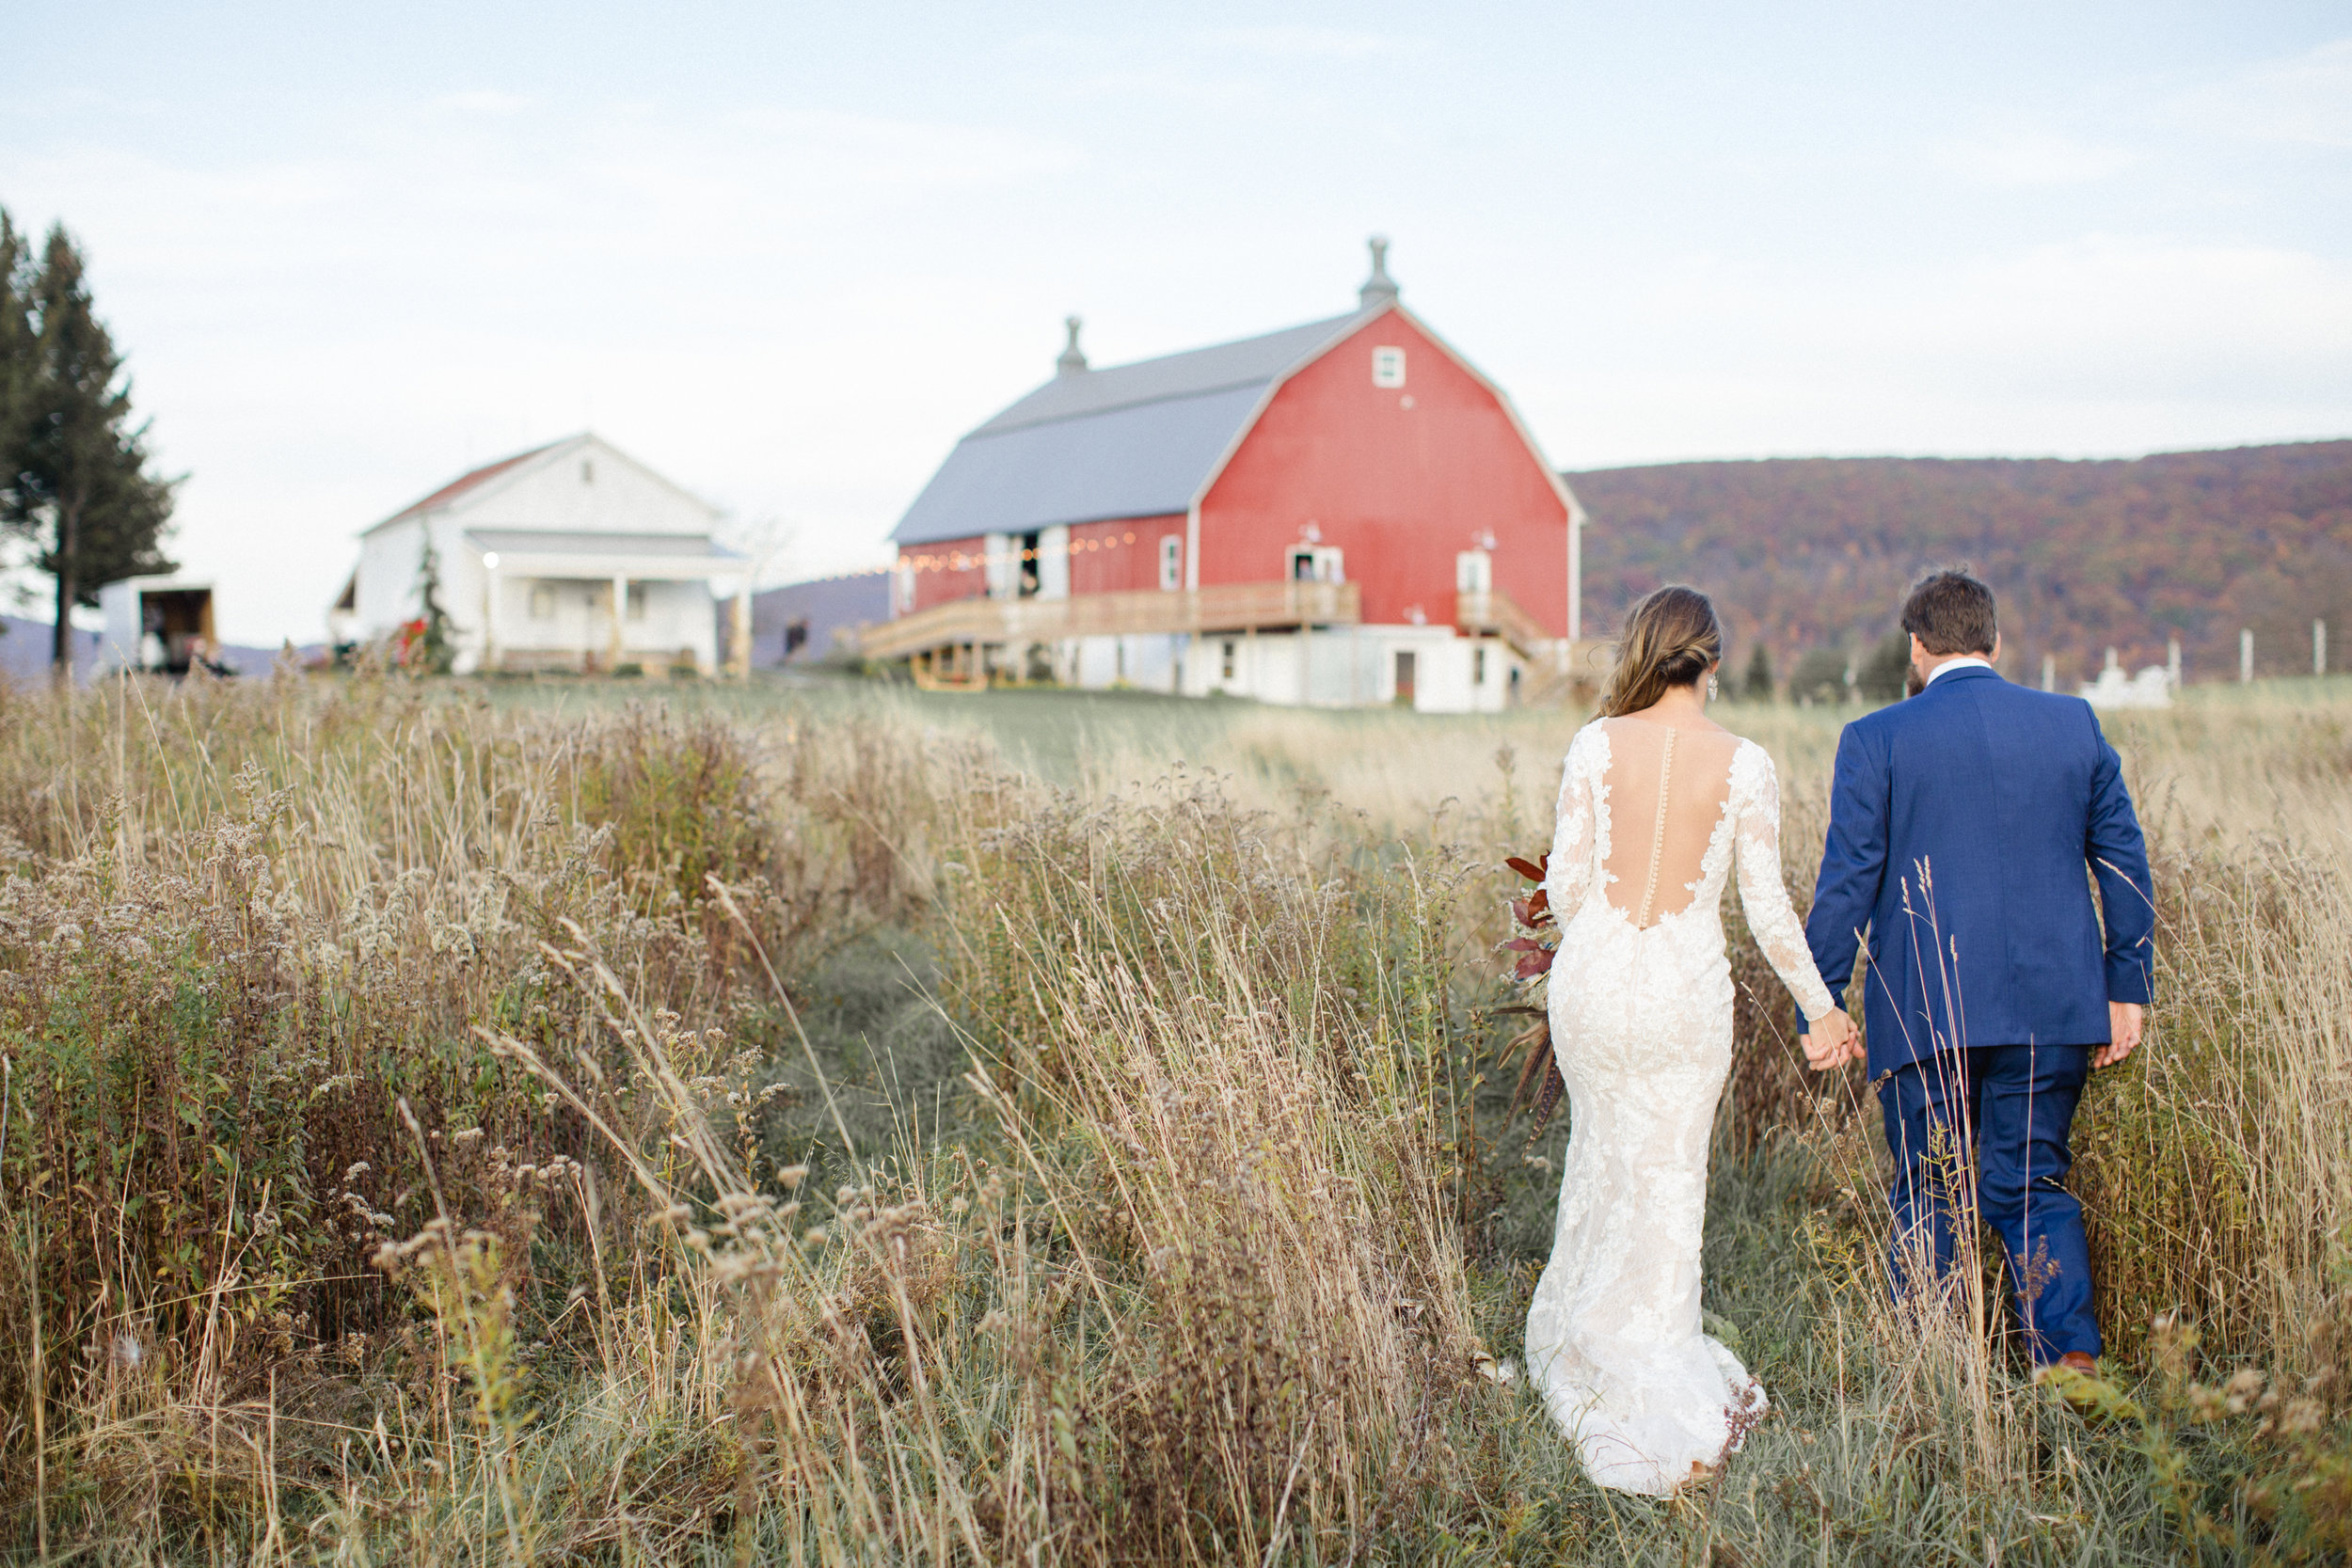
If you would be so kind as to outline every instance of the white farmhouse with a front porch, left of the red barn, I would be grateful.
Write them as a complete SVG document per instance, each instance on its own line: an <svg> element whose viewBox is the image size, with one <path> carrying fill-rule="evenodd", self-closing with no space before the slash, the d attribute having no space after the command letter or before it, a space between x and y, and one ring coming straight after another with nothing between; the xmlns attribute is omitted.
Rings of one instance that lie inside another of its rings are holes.
<svg viewBox="0 0 2352 1568"><path fill-rule="evenodd" d="M360 534L329 630L336 642L397 637L421 614L430 545L459 672L710 675L713 585L736 595L741 616L750 571L713 538L717 520L612 442L574 435L475 468Z"/></svg>

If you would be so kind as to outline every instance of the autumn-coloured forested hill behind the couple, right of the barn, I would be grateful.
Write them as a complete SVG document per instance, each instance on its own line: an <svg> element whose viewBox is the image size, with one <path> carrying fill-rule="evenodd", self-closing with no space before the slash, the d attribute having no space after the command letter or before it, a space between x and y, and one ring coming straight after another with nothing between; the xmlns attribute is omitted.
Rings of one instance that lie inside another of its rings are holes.
<svg viewBox="0 0 2352 1568"><path fill-rule="evenodd" d="M1658 583L1715 595L1733 668L1867 646L1931 564L1971 564L2002 599L2004 665L2060 679L2164 661L2237 672L2253 628L2267 672L2352 665L2352 440L2131 461L1769 458L1566 475L1590 512L1585 607L1599 628Z"/></svg>

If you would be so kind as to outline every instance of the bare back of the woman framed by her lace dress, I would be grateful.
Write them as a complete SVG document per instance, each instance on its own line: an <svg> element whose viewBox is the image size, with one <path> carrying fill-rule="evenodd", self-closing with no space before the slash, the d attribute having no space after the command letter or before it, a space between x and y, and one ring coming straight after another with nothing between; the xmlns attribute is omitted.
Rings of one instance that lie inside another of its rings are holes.
<svg viewBox="0 0 2352 1568"><path fill-rule="evenodd" d="M1705 879L1703 863L1731 799L1731 757L1740 738L1649 719L1609 719L1604 729L1604 898L1646 931L1689 910Z"/></svg>

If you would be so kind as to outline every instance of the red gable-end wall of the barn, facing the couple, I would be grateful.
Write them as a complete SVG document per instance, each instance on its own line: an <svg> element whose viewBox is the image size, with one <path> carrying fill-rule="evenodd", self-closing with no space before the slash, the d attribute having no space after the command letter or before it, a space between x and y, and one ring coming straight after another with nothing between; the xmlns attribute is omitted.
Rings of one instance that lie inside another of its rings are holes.
<svg viewBox="0 0 2352 1568"><path fill-rule="evenodd" d="M1371 350L1404 350L1404 386ZM1411 407L1406 407L1411 400ZM1454 621L1454 557L1494 534L1494 585L1569 635L1569 512L1503 402L1397 313L1294 374L1209 487L1200 583L1282 576L1312 522L1343 550L1364 621Z"/></svg>

